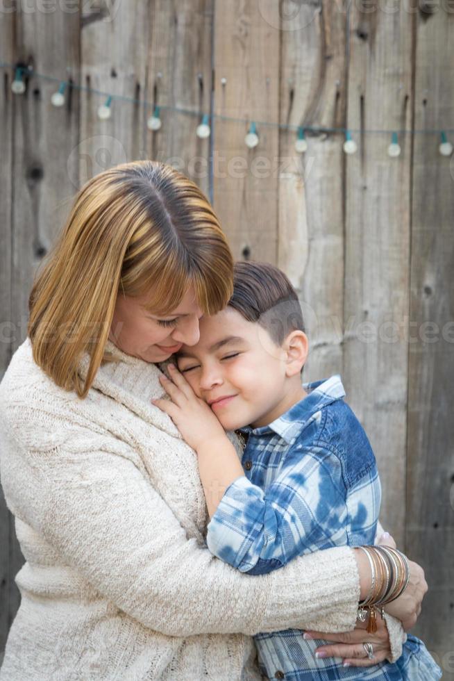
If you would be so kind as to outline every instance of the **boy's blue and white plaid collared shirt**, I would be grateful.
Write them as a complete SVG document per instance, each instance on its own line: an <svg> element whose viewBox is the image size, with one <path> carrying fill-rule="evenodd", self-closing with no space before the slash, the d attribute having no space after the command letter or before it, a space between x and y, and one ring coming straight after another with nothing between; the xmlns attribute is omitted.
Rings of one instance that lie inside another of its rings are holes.
<svg viewBox="0 0 454 681"><path fill-rule="evenodd" d="M208 525L210 551L250 575L320 549L373 544L376 535L381 498L376 460L364 429L342 400L340 377L303 387L307 397L283 416L267 426L241 429L248 437L242 457L246 472L228 486ZM395 664L369 668L316 659L314 648L323 641L305 641L301 630L254 639L268 678L439 678L423 643L410 636Z"/></svg>

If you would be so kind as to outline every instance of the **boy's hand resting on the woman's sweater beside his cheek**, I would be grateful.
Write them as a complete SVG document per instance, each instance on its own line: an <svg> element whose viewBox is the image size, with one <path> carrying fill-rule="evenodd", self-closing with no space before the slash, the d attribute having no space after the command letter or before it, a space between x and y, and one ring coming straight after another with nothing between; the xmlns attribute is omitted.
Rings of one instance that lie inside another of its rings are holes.
<svg viewBox="0 0 454 681"><path fill-rule="evenodd" d="M168 369L171 380L166 376L160 376L159 379L167 395L171 397L171 402L168 400L151 402L170 416L187 444L194 450L212 438L219 436L227 438L215 414L206 402L196 396L185 377L173 364L169 364Z"/></svg>

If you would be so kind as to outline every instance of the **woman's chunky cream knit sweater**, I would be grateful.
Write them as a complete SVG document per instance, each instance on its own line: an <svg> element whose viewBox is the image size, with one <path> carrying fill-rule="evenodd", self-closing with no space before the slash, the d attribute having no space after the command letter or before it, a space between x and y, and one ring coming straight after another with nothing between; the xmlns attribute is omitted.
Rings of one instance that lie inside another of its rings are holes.
<svg viewBox="0 0 454 681"><path fill-rule="evenodd" d="M85 400L28 339L0 384L1 483L26 559L0 680L258 680L251 634L353 628L350 549L261 576L212 557L196 456L150 402L159 368L106 350Z"/></svg>

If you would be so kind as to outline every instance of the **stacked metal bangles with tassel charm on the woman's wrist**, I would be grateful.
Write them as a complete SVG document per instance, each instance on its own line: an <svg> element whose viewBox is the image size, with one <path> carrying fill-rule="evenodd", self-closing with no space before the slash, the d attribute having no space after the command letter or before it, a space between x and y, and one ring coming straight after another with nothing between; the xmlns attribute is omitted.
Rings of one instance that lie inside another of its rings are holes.
<svg viewBox="0 0 454 681"><path fill-rule="evenodd" d="M396 600L405 591L410 580L410 566L407 558L397 549L389 546L358 546L367 555L371 566L371 586L366 598L358 608L358 619L367 621L367 632L377 630L376 608Z"/></svg>

